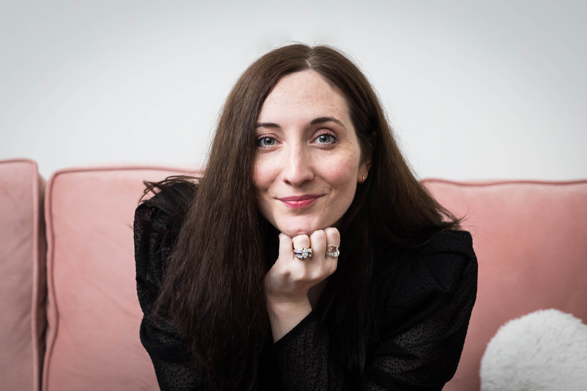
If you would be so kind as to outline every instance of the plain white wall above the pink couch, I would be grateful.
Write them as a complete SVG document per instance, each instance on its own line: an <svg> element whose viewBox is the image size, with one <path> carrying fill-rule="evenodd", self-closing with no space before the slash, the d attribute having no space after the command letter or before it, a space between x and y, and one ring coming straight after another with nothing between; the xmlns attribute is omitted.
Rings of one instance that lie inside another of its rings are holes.
<svg viewBox="0 0 587 391"><path fill-rule="evenodd" d="M301 41L357 60L419 177L587 177L587 2L280 3L2 2L0 159L203 164L238 75Z"/></svg>

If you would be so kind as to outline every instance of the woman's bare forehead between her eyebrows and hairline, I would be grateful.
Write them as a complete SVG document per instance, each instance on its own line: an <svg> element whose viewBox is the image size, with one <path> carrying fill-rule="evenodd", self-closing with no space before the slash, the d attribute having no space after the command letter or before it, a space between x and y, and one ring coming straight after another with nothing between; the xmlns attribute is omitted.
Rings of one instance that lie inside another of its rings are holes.
<svg viewBox="0 0 587 391"><path fill-rule="evenodd" d="M279 79L263 102L258 120L277 120L273 116L284 119L290 116L333 116L350 124L345 98L319 73L311 70Z"/></svg>

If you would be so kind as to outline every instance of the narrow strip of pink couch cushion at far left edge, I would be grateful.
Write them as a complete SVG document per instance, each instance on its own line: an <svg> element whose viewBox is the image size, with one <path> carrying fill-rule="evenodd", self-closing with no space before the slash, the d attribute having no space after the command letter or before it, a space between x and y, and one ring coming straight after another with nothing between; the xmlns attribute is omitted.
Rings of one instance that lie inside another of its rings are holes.
<svg viewBox="0 0 587 391"><path fill-rule="evenodd" d="M0 384L38 391L45 351L45 180L28 159L0 160Z"/></svg>

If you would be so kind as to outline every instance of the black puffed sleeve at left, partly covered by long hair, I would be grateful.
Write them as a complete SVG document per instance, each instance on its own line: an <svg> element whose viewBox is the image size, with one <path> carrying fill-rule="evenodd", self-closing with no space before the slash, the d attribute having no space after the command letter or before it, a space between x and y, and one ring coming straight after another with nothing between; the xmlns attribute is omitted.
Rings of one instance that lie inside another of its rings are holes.
<svg viewBox="0 0 587 391"><path fill-rule="evenodd" d="M149 318L163 281L163 264L171 252L174 235L168 215L150 205L140 204L134 214L134 258L139 303L143 310L140 340L149 353L161 391L201 390L201 376L190 365L187 343L167 319Z"/></svg>

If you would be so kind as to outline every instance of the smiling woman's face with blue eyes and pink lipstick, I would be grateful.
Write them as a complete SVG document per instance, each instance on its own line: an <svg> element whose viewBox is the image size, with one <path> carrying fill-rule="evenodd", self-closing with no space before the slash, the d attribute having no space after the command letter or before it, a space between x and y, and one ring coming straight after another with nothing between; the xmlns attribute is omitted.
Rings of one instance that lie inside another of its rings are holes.
<svg viewBox="0 0 587 391"><path fill-rule="evenodd" d="M367 170L344 97L310 70L282 77L257 119L253 180L269 223L290 237L334 226Z"/></svg>

